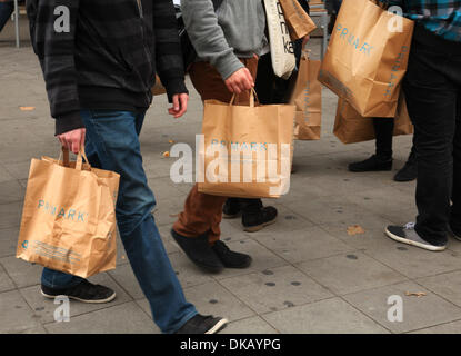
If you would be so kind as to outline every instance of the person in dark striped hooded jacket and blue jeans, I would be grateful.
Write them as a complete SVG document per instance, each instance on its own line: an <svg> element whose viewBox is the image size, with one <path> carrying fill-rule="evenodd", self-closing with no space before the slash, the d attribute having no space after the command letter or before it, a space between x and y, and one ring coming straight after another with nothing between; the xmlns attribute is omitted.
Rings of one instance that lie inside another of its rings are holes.
<svg viewBox="0 0 461 356"><path fill-rule="evenodd" d="M27 11L56 136L76 154L84 145L93 167L120 174L118 228L154 323L168 334L219 332L227 324L224 318L200 315L186 300L151 212L156 198L140 151L139 135L152 100L156 72L173 103L169 113L179 118L187 110L173 3L30 0ZM62 23L66 18L57 21L67 11L69 22ZM41 293L84 303L116 298L106 286L49 268L43 268Z"/></svg>

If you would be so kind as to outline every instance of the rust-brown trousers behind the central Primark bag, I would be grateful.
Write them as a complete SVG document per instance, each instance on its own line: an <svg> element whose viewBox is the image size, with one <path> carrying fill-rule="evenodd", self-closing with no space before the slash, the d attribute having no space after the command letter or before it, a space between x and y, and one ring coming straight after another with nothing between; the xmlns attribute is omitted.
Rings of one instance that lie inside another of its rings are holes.
<svg viewBox="0 0 461 356"><path fill-rule="evenodd" d="M257 78L258 59L240 59L249 69L254 80ZM222 77L208 62L196 62L189 71L193 87L201 96L202 101L216 99L229 102L232 93L226 87ZM235 97L235 103L248 105L250 92L242 92ZM222 219L222 206L227 197L211 196L199 192L196 184L186 199L184 210L179 215L173 225L173 230L186 237L198 237L208 234L210 244L219 240L221 229L219 225Z"/></svg>

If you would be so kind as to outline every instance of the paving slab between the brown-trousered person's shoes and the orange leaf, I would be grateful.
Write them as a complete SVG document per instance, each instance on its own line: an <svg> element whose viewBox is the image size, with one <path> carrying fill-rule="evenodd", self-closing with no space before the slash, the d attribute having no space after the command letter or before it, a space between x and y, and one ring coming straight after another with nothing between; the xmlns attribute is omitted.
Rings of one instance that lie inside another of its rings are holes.
<svg viewBox="0 0 461 356"><path fill-rule="evenodd" d="M254 238L291 264L354 250L353 247L317 226L292 230L284 235L264 233Z"/></svg>

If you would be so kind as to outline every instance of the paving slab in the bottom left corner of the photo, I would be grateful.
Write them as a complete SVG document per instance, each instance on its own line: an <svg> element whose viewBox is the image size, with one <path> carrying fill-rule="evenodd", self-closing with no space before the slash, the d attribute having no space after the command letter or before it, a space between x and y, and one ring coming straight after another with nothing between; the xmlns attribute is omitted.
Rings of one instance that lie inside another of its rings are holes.
<svg viewBox="0 0 461 356"><path fill-rule="evenodd" d="M0 294L0 333L17 334L40 326L34 315L18 290Z"/></svg>

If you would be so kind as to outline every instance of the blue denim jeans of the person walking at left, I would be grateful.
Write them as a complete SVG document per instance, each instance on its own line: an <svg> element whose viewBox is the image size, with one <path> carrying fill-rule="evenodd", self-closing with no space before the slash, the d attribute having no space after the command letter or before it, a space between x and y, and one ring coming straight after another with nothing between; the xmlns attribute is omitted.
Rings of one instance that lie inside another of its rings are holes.
<svg viewBox="0 0 461 356"><path fill-rule="evenodd" d="M151 214L156 199L142 168L139 134L144 112L82 110L86 151L93 167L120 174L116 207L121 240L134 275L163 333L177 332L197 314L188 303ZM69 288L82 278L44 268L41 283Z"/></svg>

